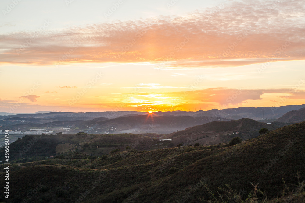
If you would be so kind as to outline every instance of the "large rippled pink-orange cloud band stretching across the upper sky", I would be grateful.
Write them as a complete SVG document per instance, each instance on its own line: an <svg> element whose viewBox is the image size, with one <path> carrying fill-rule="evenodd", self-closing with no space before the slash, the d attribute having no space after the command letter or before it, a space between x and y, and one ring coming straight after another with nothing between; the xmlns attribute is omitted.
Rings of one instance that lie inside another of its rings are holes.
<svg viewBox="0 0 305 203"><path fill-rule="evenodd" d="M24 50L20 46L34 33L10 33L0 38L0 63L150 62L180 68L299 60L305 58L304 10L303 0L228 1L221 9L185 16L46 31Z"/></svg>

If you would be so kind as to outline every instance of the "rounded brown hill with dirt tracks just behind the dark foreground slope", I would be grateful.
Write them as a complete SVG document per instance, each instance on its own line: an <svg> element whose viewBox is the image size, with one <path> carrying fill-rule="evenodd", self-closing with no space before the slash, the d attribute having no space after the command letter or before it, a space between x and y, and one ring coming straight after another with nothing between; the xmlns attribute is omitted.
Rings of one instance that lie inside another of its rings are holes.
<svg viewBox="0 0 305 203"><path fill-rule="evenodd" d="M254 121L249 118L242 118L233 121L210 122L193 126L182 131L164 135L163 138L172 139L174 144L184 144L186 141L191 141L188 144L214 145L229 142L233 137L237 136L243 140L256 138L260 135L258 131L261 128L267 128L271 131L277 129L278 126Z"/></svg>

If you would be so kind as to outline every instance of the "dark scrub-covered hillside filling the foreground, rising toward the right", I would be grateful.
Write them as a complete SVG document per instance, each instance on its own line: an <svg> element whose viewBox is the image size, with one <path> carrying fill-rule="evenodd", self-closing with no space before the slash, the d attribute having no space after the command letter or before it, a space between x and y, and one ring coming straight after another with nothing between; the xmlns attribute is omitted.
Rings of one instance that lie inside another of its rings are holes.
<svg viewBox="0 0 305 203"><path fill-rule="evenodd" d="M106 159L67 159L65 166L56 159L24 163L10 173L9 202L204 202L213 199L207 188L218 198L217 191L225 192L217 188L229 190L226 184L246 199L251 183L274 199L285 189L282 179L290 190L297 173L305 180L304 132L302 122L235 146L119 152ZM294 202L304 202L301 195Z"/></svg>

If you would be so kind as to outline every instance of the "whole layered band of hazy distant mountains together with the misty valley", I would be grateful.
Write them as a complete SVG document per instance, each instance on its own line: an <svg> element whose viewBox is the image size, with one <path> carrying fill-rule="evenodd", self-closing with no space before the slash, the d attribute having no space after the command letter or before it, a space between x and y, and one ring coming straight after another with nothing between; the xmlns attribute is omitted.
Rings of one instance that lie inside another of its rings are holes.
<svg viewBox="0 0 305 203"><path fill-rule="evenodd" d="M303 107L303 108L302 108ZM113 133L157 133L169 134L212 121L230 121L241 118L261 120L278 118L277 127L304 121L304 105L282 107L239 107L234 109L208 111L169 111L169 112L48 112L0 116L0 130L26 131L30 128L43 128L54 132L77 133L84 131L95 134ZM285 114L285 115L284 115ZM273 119L275 120L275 119ZM257 125L257 124L255 124ZM70 128L70 129L63 129ZM232 130L238 130L232 125Z"/></svg>

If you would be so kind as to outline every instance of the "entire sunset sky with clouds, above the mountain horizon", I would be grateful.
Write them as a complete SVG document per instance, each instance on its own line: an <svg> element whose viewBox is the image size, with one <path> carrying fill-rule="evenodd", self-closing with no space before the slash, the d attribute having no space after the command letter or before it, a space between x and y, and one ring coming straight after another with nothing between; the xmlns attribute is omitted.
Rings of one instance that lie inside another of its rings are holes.
<svg viewBox="0 0 305 203"><path fill-rule="evenodd" d="M303 0L2 0L0 112L305 104Z"/></svg>

